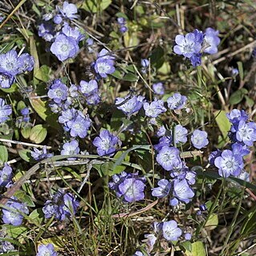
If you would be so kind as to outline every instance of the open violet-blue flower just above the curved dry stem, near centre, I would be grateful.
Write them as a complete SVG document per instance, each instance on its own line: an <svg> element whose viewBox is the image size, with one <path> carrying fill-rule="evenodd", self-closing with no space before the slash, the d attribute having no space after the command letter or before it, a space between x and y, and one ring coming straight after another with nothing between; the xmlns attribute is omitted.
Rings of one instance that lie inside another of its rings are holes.
<svg viewBox="0 0 256 256"><path fill-rule="evenodd" d="M117 144L120 144L120 140L108 130L103 130L100 132L100 136L95 137L92 144L97 147L99 156L113 156Z"/></svg>

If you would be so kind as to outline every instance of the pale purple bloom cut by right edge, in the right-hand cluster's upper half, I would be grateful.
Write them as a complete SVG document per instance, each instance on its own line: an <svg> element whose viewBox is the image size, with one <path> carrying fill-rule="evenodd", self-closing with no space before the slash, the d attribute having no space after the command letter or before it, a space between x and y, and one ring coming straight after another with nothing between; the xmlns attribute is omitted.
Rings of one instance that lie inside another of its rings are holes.
<svg viewBox="0 0 256 256"><path fill-rule="evenodd" d="M252 146L256 141L256 124L254 122L246 123L245 121L240 121L236 139L247 146Z"/></svg>

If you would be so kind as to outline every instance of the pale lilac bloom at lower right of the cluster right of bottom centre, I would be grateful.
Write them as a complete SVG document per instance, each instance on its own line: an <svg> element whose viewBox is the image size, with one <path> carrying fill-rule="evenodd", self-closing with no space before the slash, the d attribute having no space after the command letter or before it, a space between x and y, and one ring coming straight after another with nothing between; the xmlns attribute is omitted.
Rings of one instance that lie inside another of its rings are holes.
<svg viewBox="0 0 256 256"><path fill-rule="evenodd" d="M193 189L189 186L188 181L175 179L173 181L173 197L176 197L179 201L189 203L192 200L195 193Z"/></svg>

